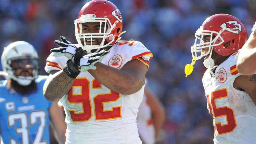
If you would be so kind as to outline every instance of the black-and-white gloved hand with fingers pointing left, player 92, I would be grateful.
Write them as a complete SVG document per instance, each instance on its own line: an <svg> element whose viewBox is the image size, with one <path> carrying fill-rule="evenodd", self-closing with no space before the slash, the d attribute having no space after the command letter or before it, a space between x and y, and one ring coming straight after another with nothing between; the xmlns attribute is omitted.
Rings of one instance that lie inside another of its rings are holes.
<svg viewBox="0 0 256 144"><path fill-rule="evenodd" d="M62 42L59 40L54 41L61 47L51 49L53 56L66 56L68 59L72 59L72 56L76 53L77 47L68 41L64 36L60 36L60 39Z"/></svg>

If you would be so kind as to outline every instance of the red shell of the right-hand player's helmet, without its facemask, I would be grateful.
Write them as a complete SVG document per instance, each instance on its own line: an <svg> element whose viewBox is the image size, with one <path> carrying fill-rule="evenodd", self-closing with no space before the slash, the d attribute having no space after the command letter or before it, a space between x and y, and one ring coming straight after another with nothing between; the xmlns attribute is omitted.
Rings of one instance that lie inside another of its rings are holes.
<svg viewBox="0 0 256 144"><path fill-rule="evenodd" d="M216 14L207 18L203 24L203 30L211 30L221 32L220 36L224 42L218 46L213 46L213 50L223 56L228 56L237 52L242 48L246 40L248 39L247 30L244 24L236 17L228 14ZM216 34L213 34L216 36ZM222 42L220 37L214 44ZM230 42L228 47L224 47L224 44Z"/></svg>

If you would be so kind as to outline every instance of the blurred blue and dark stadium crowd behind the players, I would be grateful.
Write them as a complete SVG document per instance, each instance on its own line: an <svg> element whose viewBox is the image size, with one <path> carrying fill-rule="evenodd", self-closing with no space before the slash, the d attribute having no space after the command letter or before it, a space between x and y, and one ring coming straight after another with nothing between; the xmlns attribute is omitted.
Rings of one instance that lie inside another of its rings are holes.
<svg viewBox="0 0 256 144"><path fill-rule="evenodd" d="M249 34L256 19L255 0L110 0L123 17L122 39L142 42L153 54L147 72L148 87L163 103L166 121L158 144L213 143L201 83L202 60L185 78L191 63L194 33L209 16L227 13L239 18ZM40 56L40 75L54 40L60 35L76 43L74 19L86 0L0 0L0 46L14 41L31 43ZM0 68L2 70L2 68ZM55 142L53 142L55 144Z"/></svg>

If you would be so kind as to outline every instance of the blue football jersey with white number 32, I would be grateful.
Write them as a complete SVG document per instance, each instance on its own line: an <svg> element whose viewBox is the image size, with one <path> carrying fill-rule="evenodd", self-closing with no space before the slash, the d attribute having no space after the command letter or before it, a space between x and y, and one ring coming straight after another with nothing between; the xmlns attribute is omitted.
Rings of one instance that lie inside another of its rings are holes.
<svg viewBox="0 0 256 144"><path fill-rule="evenodd" d="M5 144L48 144L49 108L52 102L43 96L46 77L35 80L37 90L21 95L0 83L0 135Z"/></svg>

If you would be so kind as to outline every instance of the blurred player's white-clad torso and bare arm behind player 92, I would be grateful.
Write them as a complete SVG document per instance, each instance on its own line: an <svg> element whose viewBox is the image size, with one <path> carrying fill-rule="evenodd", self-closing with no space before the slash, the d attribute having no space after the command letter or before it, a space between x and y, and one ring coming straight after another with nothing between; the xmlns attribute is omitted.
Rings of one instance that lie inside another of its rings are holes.
<svg viewBox="0 0 256 144"><path fill-rule="evenodd" d="M147 84L147 79L146 82ZM144 96L139 106L137 127L143 144L154 144L159 139L165 119L163 105L150 90L145 87Z"/></svg>

